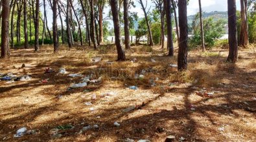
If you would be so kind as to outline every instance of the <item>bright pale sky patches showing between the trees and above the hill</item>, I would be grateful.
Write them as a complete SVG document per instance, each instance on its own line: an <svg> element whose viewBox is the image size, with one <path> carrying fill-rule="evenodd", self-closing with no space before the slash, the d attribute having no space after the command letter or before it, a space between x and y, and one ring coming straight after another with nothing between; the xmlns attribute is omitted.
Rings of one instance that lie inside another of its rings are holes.
<svg viewBox="0 0 256 142"><path fill-rule="evenodd" d="M64 1L64 0L61 0ZM141 5L138 3L138 0L135 1L135 8L132 7L129 11L130 12L137 12L137 15L139 17L144 17L143 10L141 9ZM146 4L146 1L148 1L147 10L150 8L152 10L154 8L154 3L152 0L143 0L143 2ZM237 10L240 10L240 0L237 1ZM77 0L74 1L74 3L77 3ZM213 12L213 11L220 11L224 12L227 11L227 0L201 0L202 3L202 10L203 12ZM75 9L78 8L79 5L75 5ZM104 9L104 17L108 14L110 10L110 6L106 6ZM199 11L198 7L198 0L189 0L189 5L187 6L187 15L194 15ZM41 6L41 12L43 12L43 7ZM74 16L75 18L75 16ZM64 18L63 18L64 19ZM47 20L49 27L52 27L52 10L47 6ZM111 21L110 21L111 22ZM60 19L58 17L58 25L60 25Z"/></svg>

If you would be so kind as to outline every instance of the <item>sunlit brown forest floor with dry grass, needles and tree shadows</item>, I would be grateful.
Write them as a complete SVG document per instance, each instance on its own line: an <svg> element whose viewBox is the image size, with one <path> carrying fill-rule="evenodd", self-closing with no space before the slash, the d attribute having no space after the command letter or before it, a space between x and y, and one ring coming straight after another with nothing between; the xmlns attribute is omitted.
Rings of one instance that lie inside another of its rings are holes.
<svg viewBox="0 0 256 142"><path fill-rule="evenodd" d="M137 61L115 62L113 46L97 51L63 47L57 55L48 46L40 52L11 50L10 59L0 61L0 73L32 79L0 81L0 141L165 141L170 135L175 141L256 141L255 48L240 50L235 65L226 62L227 50L191 51L189 70L182 73L170 66L176 56L164 56L158 47L132 47L126 54ZM93 57L102 60L92 63ZM47 67L55 72L44 74ZM69 89L82 77L58 74L61 67L102 80ZM141 72L144 77L135 79ZM138 89L129 89L132 85ZM202 89L214 94L196 94ZM99 128L80 131L88 125ZM36 134L14 138L21 127Z"/></svg>

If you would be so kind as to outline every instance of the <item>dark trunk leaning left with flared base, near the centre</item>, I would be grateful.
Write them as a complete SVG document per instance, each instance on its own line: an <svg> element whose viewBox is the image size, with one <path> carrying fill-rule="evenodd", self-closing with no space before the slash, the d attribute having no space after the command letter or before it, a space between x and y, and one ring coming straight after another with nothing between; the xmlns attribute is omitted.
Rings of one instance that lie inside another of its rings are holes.
<svg viewBox="0 0 256 142"><path fill-rule="evenodd" d="M121 45L121 33L119 23L119 12L117 0L110 0L111 11L113 15L113 25L115 32L115 46L117 46L117 61L125 61L125 52Z"/></svg>

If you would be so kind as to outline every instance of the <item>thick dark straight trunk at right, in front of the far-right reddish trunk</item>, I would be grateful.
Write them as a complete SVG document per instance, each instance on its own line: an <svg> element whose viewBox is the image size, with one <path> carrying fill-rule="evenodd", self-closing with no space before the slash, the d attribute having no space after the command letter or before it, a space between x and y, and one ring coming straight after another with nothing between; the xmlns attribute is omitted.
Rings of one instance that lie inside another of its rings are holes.
<svg viewBox="0 0 256 142"><path fill-rule="evenodd" d="M236 63L238 58L237 45L237 6L235 0L227 0L228 14L228 40L229 40L229 55L227 61Z"/></svg>

